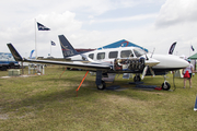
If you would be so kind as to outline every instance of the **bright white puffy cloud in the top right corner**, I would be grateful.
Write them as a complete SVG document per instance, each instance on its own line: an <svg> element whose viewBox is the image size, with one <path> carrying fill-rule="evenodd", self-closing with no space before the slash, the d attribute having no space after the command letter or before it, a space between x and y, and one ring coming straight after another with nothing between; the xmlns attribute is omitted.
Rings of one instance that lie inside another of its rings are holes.
<svg viewBox="0 0 197 131"><path fill-rule="evenodd" d="M158 26L197 21L196 0L166 0L157 20Z"/></svg>

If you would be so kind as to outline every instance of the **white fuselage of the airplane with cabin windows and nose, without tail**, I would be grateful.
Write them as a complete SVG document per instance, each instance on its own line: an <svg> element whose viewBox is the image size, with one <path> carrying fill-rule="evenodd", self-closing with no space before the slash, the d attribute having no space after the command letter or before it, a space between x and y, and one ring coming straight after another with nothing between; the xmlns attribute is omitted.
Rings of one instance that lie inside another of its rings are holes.
<svg viewBox="0 0 197 131"><path fill-rule="evenodd" d="M113 64L116 58L146 58L146 63L152 67L154 70L175 70L183 69L188 66L188 62L173 55L150 55L140 48L136 47L119 47L111 49L94 50L83 53L92 62L97 62L102 64ZM151 58L152 56L152 58ZM71 60L82 60L80 55L70 57ZM147 59L148 58L148 59ZM152 63L152 64L151 64Z"/></svg>

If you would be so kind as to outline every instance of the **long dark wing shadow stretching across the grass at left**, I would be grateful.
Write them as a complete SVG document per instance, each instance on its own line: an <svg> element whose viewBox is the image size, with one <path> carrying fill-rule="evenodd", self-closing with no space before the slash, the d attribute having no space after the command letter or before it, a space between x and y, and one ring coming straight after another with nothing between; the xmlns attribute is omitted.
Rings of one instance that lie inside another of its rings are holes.
<svg viewBox="0 0 197 131"><path fill-rule="evenodd" d="M84 91L82 91L84 92ZM88 97L88 95L93 95L94 92L91 91L91 93L88 93L85 90L85 93L80 93L79 98L81 97ZM67 103L69 100L78 100L76 88L70 87L70 90L60 90L60 91L54 91L48 93L37 93L33 96L27 96L22 99L12 100L12 102L2 102L0 104L0 107L3 107L3 110L5 112L9 112L9 110L18 110L20 108L28 108L33 107L34 109L42 109L45 107L45 105L50 105L53 103Z"/></svg>

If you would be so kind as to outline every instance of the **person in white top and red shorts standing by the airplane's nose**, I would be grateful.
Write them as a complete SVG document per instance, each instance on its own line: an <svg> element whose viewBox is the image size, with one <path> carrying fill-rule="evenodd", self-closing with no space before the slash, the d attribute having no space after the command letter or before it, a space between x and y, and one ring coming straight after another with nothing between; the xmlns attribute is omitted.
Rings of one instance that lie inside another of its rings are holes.
<svg viewBox="0 0 197 131"><path fill-rule="evenodd" d="M189 62L189 66L183 69L183 75L184 75L184 88L186 87L186 81L189 81L189 87L192 87L192 76L195 75L194 73L194 66L190 63L190 59L187 59Z"/></svg>

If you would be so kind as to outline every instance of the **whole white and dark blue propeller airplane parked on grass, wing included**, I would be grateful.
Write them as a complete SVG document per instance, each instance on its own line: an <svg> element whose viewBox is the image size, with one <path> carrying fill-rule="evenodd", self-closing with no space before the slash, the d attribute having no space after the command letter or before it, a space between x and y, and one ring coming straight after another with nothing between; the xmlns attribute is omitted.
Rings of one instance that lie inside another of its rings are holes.
<svg viewBox="0 0 197 131"><path fill-rule="evenodd" d="M134 80L140 81L146 74L166 74L169 71L183 69L188 66L187 61L176 56L151 55L136 47L111 48L79 53L63 35L59 35L59 41L65 59L72 62L25 59L20 56L12 44L8 44L8 47L16 61L59 64L94 71L96 72L95 83L97 90L104 90L106 87L105 81L114 81L116 73L135 73ZM86 62L82 62L84 60ZM141 73L142 76L140 78ZM106 75L109 79L106 79ZM170 84L164 81L162 88L170 90Z"/></svg>

